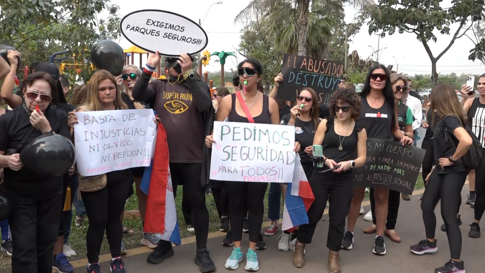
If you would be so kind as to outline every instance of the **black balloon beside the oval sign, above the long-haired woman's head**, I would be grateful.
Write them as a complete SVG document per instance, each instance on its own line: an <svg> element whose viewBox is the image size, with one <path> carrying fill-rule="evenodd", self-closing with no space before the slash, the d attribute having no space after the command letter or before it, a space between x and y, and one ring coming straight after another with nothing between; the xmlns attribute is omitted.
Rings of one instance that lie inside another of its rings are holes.
<svg viewBox="0 0 485 273"><path fill-rule="evenodd" d="M125 65L125 53L117 43L103 40L91 50L91 61L98 69L106 69L113 76L119 76Z"/></svg>

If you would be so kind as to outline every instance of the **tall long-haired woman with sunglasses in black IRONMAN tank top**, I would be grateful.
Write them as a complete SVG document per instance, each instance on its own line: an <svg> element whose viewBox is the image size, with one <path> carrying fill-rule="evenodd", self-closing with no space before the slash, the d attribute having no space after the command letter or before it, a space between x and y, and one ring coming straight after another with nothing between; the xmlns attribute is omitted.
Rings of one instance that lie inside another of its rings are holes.
<svg viewBox="0 0 485 273"><path fill-rule="evenodd" d="M357 119L367 131L367 137L394 140L399 139L403 145L412 144L413 139L404 136L399 130L397 120L397 103L394 101L394 92L389 80L389 71L383 65L375 65L367 74L366 82L360 97L362 98L362 112ZM359 216L360 205L364 199L365 188L357 187L347 218L347 232L342 241L342 248L352 249L354 241L354 228ZM384 230L388 216L389 188L374 187L376 225L364 229L364 233L377 233L372 253L386 254L384 244Z"/></svg>

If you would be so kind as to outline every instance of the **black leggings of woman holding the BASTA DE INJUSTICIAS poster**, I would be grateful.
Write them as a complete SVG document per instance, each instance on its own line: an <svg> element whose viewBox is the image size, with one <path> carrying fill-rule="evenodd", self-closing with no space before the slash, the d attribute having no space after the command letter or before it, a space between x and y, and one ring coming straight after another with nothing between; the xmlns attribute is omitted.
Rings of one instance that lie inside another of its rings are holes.
<svg viewBox="0 0 485 273"><path fill-rule="evenodd" d="M106 174L106 187L93 191L81 191L82 201L89 218L86 249L89 263L99 260L104 232L113 258L121 256L123 228L120 215L125 209L126 197L133 180L131 171L112 171Z"/></svg>

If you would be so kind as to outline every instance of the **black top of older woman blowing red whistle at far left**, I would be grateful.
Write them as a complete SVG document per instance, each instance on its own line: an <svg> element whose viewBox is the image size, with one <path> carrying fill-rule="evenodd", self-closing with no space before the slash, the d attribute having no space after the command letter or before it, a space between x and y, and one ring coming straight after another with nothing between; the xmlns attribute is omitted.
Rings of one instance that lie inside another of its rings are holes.
<svg viewBox="0 0 485 273"><path fill-rule="evenodd" d="M48 107L44 115L56 134L70 139L71 133L67 126L67 114L64 111ZM31 127L29 115L22 106L16 107L13 111L0 116L0 151L5 152L8 149L16 149ZM41 135L42 132L34 129L27 138L24 147ZM7 190L31 196L49 197L63 190L62 175L43 177L25 167L19 171L5 168L3 180Z"/></svg>

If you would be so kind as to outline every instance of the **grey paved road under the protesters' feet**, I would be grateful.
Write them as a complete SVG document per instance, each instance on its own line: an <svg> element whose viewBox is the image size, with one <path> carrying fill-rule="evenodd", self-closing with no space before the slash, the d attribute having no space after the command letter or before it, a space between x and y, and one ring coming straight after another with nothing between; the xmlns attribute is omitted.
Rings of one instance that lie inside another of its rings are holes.
<svg viewBox="0 0 485 273"><path fill-rule="evenodd" d="M402 238L401 243L394 243L386 239L388 254L386 256L375 256L372 254L374 235L366 235L362 230L370 222L363 220L361 215L357 221L354 249L351 251L341 251L341 266L343 273L409 273L409 272L434 272L434 269L444 264L450 258L448 240L446 233L439 230L443 223L440 217L439 204L436 207L436 239L438 240L439 250L433 255L416 256L409 251L409 245L417 243L425 238L424 224L421 218L419 195L422 190L415 191L411 201L401 201L399 211L397 232ZM468 185L462 191L463 200L466 200ZM370 209L366 203L366 212ZM462 220L464 224L460 227L463 235L462 258L465 261L465 268L469 273L485 273L484 268L484 245L485 238L471 239L468 237L469 223L473 220L473 209L469 205L462 205ZM328 215L323 216L323 221L317 226L313 243L307 246L306 264L302 269L296 269L292 265L292 253L281 252L277 249L277 236L265 237L268 245L266 250L258 251L260 272L264 273L314 273L327 272L327 253L325 247L328 231ZM215 233L212 236L224 236L222 233ZM223 237L210 239L208 247L210 256L217 266L217 272L226 272L224 263L230 255L231 249L221 245ZM248 236L243 235L244 253L247 251ZM175 249L175 256L165 260L162 264L153 265L146 262L147 249L129 250L132 256L124 258L127 272L143 273L198 273L198 267L194 265L195 245L194 243L183 244ZM105 260L106 257L105 257ZM245 261L237 272L245 272ZM85 272L85 260L78 261L79 268L75 273ZM102 269L109 272L109 263L103 262Z"/></svg>

